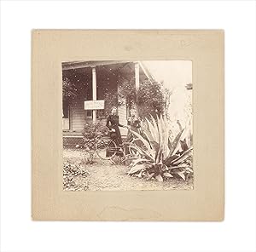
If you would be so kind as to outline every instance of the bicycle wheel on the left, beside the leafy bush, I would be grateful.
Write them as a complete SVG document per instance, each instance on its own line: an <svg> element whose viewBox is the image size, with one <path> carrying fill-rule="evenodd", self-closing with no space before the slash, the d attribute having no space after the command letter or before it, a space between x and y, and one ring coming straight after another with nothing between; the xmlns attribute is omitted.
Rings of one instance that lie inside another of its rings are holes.
<svg viewBox="0 0 256 252"><path fill-rule="evenodd" d="M116 143L110 138L102 138L96 143L96 153L103 160L110 160L118 151Z"/></svg>

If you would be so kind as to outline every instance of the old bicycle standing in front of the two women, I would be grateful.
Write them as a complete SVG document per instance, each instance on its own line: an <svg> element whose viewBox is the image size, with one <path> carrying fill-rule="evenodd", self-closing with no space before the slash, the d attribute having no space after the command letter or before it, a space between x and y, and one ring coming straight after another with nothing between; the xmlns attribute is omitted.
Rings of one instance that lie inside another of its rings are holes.
<svg viewBox="0 0 256 252"><path fill-rule="evenodd" d="M132 139L125 140L122 146L118 146L116 142L111 139L109 136L104 136L102 134L96 136L96 153L97 156L103 160L112 160L116 155L121 156L122 158L129 158L129 155L137 155L137 151L132 148L135 141L139 140L134 136L131 129L128 129L128 132L131 133Z"/></svg>

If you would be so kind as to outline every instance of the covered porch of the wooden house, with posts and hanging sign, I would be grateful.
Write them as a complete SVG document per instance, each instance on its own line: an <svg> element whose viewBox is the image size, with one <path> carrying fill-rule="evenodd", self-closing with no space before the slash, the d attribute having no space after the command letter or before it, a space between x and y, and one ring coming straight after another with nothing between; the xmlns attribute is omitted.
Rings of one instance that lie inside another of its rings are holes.
<svg viewBox="0 0 256 252"><path fill-rule="evenodd" d="M109 100L108 94L118 94L121 81L134 80L136 89L140 82L154 78L141 61L73 61L62 63L62 80L68 80L76 96L62 103L62 129L64 145L78 141L84 124L100 120L106 123L111 106L117 106L119 122L126 125L129 107L119 105L118 98ZM121 129L126 135L126 129Z"/></svg>

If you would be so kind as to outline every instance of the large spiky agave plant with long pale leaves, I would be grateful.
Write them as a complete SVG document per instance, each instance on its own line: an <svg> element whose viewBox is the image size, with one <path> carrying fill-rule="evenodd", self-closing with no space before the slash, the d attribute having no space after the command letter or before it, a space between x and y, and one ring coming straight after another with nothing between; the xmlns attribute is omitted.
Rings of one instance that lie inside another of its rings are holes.
<svg viewBox="0 0 256 252"><path fill-rule="evenodd" d="M147 125L143 127L143 135L132 131L143 145L138 146L136 142L131 145L137 156L131 158L128 175L146 177L148 180L155 178L159 181L178 175L186 180L188 175L193 174L193 146L190 146L190 140L186 140L189 128L180 130L171 140L166 117L160 115L156 120L150 117L151 120L145 118Z"/></svg>

